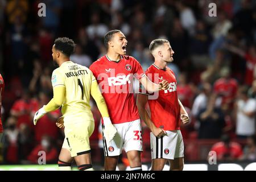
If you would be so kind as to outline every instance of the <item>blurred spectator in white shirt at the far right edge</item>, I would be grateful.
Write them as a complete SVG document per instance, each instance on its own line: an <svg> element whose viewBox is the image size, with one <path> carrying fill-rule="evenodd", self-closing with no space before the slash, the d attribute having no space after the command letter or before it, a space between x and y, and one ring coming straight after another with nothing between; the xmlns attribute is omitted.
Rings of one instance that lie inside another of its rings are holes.
<svg viewBox="0 0 256 182"><path fill-rule="evenodd" d="M247 86L238 90L238 101L236 103L236 134L240 139L245 139L255 134L255 111L256 101L247 96Z"/></svg>

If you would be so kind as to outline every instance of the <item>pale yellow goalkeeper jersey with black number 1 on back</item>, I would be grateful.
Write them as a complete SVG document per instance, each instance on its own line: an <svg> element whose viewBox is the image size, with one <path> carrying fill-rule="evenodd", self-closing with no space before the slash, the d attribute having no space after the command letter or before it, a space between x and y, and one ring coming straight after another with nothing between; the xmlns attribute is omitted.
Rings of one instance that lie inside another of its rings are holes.
<svg viewBox="0 0 256 182"><path fill-rule="evenodd" d="M61 113L82 115L84 120L94 121L90 110L90 88L96 81L92 72L82 65L66 61L52 72L52 86L65 86L65 98Z"/></svg>

